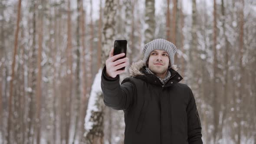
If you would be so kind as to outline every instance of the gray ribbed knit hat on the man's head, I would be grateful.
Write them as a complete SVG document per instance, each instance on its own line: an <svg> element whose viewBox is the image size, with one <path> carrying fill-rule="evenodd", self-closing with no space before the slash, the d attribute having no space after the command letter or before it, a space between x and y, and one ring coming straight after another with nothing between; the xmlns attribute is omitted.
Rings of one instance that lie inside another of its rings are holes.
<svg viewBox="0 0 256 144"><path fill-rule="evenodd" d="M143 54L144 54L143 61L147 62L151 52L156 49L166 51L169 55L169 60L170 60L171 65L174 65L174 55L177 51L177 48L176 48L176 46L174 46L173 43L171 43L165 39L154 39L154 40L148 42L143 48ZM169 66L168 69L171 68L171 65Z"/></svg>

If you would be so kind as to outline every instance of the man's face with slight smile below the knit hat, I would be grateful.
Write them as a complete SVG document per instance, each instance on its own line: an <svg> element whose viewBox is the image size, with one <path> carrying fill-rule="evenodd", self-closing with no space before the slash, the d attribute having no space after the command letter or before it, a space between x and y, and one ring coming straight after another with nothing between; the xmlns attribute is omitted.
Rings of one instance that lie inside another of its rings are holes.
<svg viewBox="0 0 256 144"><path fill-rule="evenodd" d="M148 68L155 74L164 74L169 66L169 55L164 50L154 50L148 59Z"/></svg>

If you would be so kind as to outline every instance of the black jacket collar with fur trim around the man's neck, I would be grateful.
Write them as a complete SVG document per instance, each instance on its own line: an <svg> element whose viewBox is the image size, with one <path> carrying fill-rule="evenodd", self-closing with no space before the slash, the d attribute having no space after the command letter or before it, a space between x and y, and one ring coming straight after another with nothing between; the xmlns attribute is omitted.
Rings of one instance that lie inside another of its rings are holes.
<svg viewBox="0 0 256 144"><path fill-rule="evenodd" d="M129 68L129 73L131 77L142 79L154 85L161 85L161 81L158 79L156 75L148 74L145 72L145 67L146 63L142 60L133 62L131 67ZM177 72L177 65L172 65L171 68L168 70L171 72L171 78L167 81L167 83L164 86L162 85L163 87L174 85L183 79L181 75Z"/></svg>

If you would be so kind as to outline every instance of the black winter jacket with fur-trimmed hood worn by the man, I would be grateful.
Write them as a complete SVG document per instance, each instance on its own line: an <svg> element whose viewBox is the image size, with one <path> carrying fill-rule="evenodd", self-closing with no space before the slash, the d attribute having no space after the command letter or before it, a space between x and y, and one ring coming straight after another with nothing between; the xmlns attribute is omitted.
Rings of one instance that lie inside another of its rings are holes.
<svg viewBox="0 0 256 144"><path fill-rule="evenodd" d="M119 84L102 71L105 105L123 110L125 144L203 144L200 118L191 89L178 83L183 78L173 68L165 85L145 74L142 61L133 63L131 77Z"/></svg>

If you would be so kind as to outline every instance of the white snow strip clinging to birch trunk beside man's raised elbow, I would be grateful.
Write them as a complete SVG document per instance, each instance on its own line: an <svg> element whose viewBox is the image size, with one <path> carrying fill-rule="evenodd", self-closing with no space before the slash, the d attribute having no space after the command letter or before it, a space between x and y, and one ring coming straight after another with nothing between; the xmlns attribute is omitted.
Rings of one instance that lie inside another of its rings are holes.
<svg viewBox="0 0 256 144"><path fill-rule="evenodd" d="M92 91L90 94L89 102L88 102L88 108L86 111L86 116L85 116L85 131L90 131L93 126L93 122L90 121L90 118L92 116L92 111L100 111L96 104L97 100L97 95L98 93L102 92L101 88L101 74L102 74L102 69L98 70L98 73L95 75L94 82L92 84Z"/></svg>

